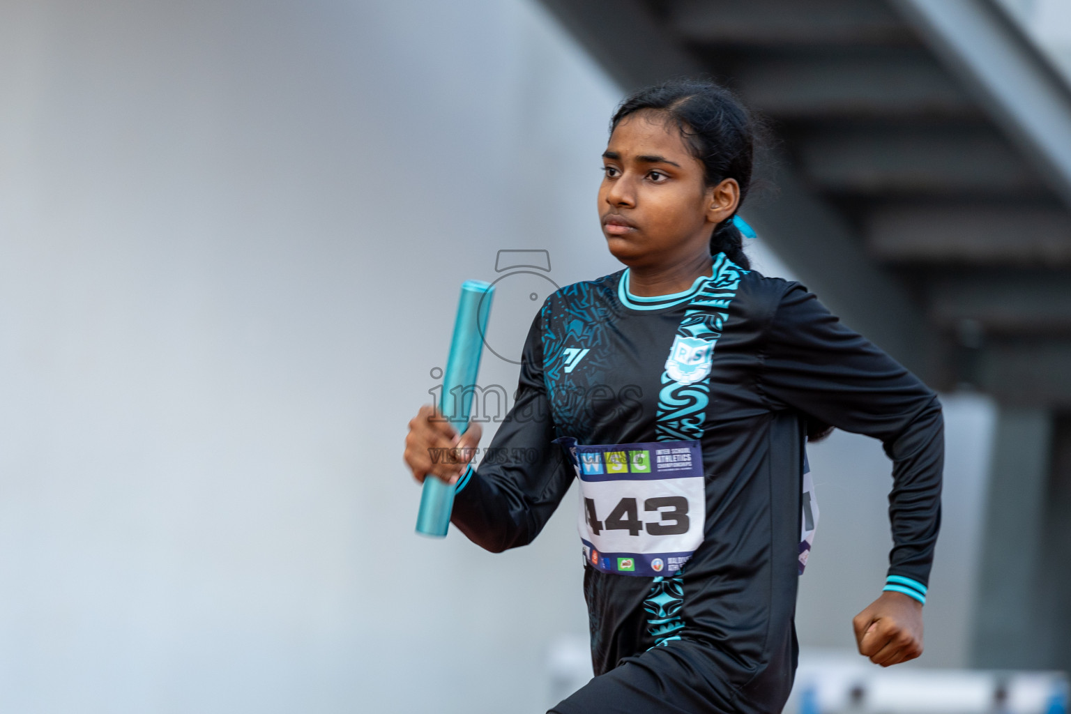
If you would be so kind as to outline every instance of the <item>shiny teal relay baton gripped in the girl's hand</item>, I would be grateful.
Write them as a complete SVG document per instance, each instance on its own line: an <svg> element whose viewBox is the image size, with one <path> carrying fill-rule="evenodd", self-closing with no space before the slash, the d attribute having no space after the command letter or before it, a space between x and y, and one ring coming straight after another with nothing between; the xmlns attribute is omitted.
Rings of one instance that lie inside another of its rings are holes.
<svg viewBox="0 0 1071 714"><path fill-rule="evenodd" d="M491 299L495 286L482 280L465 280L462 299L454 320L454 336L450 341L450 356L442 375L439 411L458 434L468 425L472 399L476 396L476 378L480 371L480 353L483 336L487 333ZM444 537L450 528L450 512L454 507L454 489L442 480L428 474L420 496L417 514L417 532L434 537Z"/></svg>

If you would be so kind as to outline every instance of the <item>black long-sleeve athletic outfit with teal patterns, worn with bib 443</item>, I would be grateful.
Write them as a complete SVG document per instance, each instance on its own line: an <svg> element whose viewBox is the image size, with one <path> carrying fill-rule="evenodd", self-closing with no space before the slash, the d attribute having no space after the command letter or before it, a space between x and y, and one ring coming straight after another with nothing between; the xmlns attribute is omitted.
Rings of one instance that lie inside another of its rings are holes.
<svg viewBox="0 0 1071 714"><path fill-rule="evenodd" d="M610 692L628 692L634 711L781 711L797 657L808 420L881 440L893 462L889 574L924 586L940 518L940 404L798 283L722 254L681 293L635 297L628 280L623 270L544 303L514 407L459 484L453 522L501 551L530 543L574 478L610 489L599 502L602 491L582 488L578 517L602 677L555 711L590 709ZM582 454L598 461L594 481L563 438L608 445ZM702 482L652 473L655 459L672 465L690 450ZM615 470L632 481L606 482ZM700 484L698 504L678 487L689 483ZM691 545L680 545L685 529ZM637 545L607 558L598 537Z"/></svg>

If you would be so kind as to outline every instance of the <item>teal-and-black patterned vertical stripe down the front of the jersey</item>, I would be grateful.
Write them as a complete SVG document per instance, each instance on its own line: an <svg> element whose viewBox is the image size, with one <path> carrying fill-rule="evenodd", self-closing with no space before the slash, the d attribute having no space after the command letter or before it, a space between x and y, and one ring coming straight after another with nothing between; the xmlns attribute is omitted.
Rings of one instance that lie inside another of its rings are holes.
<svg viewBox="0 0 1071 714"><path fill-rule="evenodd" d="M703 340L709 344L707 359L713 360L713 349L722 329L728 319L729 303L736 297L740 278L748 274L724 253L714 256L714 268L710 279L689 303L684 317L677 329L677 339ZM695 344L695 343L693 343ZM674 341L674 347L677 341ZM666 360L666 370L662 373L662 390L659 392L655 439L676 441L678 439L703 438L707 421L707 405L710 404L710 371L698 381L682 383L669 375L673 350ZM647 610L647 633L654 639L649 649L661 647L680 639L684 629L684 571L673 576L654 578L651 592L644 601Z"/></svg>

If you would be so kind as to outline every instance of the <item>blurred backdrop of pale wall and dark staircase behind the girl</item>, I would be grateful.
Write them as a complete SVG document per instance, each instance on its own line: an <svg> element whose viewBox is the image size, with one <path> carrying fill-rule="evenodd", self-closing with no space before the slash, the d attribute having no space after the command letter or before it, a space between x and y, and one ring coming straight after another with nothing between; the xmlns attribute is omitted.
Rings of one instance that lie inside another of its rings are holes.
<svg viewBox="0 0 1071 714"><path fill-rule="evenodd" d="M811 449L791 707L1061 711L1071 0L0 0L0 711L542 712L580 686L574 497L513 552L419 538L403 439L463 279L502 280L481 382L512 394L546 293L618 270L609 115L700 73L770 123L758 270L946 406L907 680L850 629L889 462Z"/></svg>

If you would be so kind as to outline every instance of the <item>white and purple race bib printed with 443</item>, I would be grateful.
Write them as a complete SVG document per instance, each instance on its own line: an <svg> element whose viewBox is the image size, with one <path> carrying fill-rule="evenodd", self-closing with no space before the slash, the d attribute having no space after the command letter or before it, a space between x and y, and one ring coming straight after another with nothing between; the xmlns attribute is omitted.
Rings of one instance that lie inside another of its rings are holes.
<svg viewBox="0 0 1071 714"><path fill-rule="evenodd" d="M673 575L703 543L707 498L698 441L564 446L580 482L584 559L618 575Z"/></svg>

